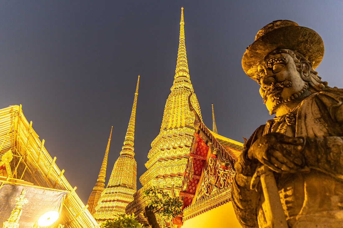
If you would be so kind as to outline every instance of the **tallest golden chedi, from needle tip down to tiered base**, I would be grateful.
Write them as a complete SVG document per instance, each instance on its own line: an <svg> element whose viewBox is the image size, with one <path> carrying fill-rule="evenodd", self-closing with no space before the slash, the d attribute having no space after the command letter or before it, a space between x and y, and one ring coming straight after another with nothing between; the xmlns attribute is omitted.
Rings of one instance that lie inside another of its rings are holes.
<svg viewBox="0 0 343 228"><path fill-rule="evenodd" d="M194 114L189 109L188 96L192 106L201 118L200 106L191 84L187 63L184 14L181 8L179 48L173 86L167 98L161 129L151 143L146 172L139 178L142 189L135 193L135 200L127 207L127 213L139 215L144 210L142 192L157 186L171 193L174 186L178 196L186 170L188 155L194 134ZM139 215L141 216L141 215Z"/></svg>

